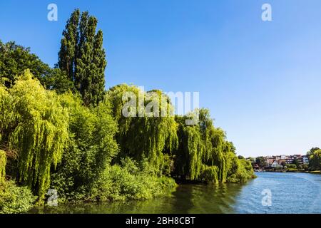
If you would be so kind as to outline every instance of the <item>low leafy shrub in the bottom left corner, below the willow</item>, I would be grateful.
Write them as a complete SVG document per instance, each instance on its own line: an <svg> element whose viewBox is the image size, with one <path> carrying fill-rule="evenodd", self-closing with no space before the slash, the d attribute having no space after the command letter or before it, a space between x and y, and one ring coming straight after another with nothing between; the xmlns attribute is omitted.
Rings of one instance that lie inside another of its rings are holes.
<svg viewBox="0 0 321 228"><path fill-rule="evenodd" d="M14 181L0 182L0 214L26 212L35 199L28 187L18 187Z"/></svg>

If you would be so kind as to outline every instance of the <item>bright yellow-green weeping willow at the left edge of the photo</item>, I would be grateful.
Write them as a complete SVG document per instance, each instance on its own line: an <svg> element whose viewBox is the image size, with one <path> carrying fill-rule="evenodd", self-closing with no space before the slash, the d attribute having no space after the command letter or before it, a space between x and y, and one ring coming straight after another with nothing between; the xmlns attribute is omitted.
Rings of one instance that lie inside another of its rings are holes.
<svg viewBox="0 0 321 228"><path fill-rule="evenodd" d="M17 180L42 199L50 185L51 165L58 164L66 145L68 113L58 95L45 90L28 70L1 93L6 93L0 97L6 110L1 116L1 147L17 152Z"/></svg>

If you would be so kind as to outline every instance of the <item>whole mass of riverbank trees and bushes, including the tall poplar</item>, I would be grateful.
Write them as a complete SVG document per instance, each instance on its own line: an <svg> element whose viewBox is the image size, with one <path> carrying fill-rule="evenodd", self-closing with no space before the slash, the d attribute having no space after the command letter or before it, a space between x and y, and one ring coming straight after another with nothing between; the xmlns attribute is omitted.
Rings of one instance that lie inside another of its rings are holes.
<svg viewBox="0 0 321 228"><path fill-rule="evenodd" d="M103 32L88 12L73 11L50 68L29 48L0 41L0 213L59 202L150 199L175 190L175 179L246 182L248 160L235 155L210 112L126 118L123 94L166 100L160 90L126 84L105 90ZM165 107L164 107L165 105ZM137 108L138 110L138 108Z"/></svg>

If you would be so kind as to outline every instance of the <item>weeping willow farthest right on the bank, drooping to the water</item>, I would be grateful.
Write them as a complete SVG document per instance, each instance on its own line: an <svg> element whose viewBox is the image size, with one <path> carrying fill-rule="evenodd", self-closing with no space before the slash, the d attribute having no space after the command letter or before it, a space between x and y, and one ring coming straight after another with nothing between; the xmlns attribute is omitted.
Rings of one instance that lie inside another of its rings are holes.
<svg viewBox="0 0 321 228"><path fill-rule="evenodd" d="M185 125L185 120L194 118L194 115L199 116L198 124ZM195 110L189 115L177 116L176 121L179 123L176 176L186 180L226 182L231 180L229 175L243 167L235 155L232 142L226 140L223 130L214 127L209 110ZM235 160L238 167L232 170Z"/></svg>

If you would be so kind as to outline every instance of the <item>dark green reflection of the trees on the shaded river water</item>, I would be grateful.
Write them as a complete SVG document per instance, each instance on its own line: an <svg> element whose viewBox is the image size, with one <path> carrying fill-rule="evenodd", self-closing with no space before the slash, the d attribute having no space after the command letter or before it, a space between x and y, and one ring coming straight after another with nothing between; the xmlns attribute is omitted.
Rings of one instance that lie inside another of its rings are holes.
<svg viewBox="0 0 321 228"><path fill-rule="evenodd" d="M233 213L235 197L242 185L179 185L169 197L129 202L59 204L38 207L31 213Z"/></svg>

